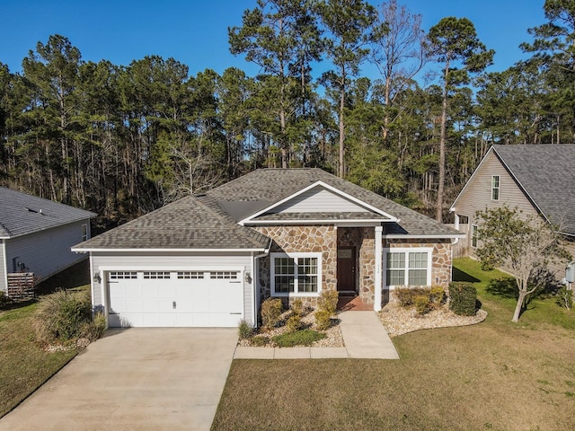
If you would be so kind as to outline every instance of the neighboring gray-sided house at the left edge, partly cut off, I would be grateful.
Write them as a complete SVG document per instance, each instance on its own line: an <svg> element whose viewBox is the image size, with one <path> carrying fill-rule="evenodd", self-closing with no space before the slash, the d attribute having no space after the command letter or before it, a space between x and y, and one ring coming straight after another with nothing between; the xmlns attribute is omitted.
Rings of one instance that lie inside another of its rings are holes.
<svg viewBox="0 0 575 431"><path fill-rule="evenodd" d="M70 251L90 238L94 213L0 187L0 291L8 274L32 272L37 281L85 256Z"/></svg>

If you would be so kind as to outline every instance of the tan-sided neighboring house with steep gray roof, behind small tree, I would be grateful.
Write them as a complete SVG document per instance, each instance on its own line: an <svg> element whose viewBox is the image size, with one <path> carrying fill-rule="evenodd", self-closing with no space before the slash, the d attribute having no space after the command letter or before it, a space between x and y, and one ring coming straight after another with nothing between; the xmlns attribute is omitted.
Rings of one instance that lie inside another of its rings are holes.
<svg viewBox="0 0 575 431"><path fill-rule="evenodd" d="M474 256L477 247L475 213L504 206L558 226L575 257L575 145L491 146L450 209L466 235L457 244L464 254ZM565 276L564 264L551 269Z"/></svg>

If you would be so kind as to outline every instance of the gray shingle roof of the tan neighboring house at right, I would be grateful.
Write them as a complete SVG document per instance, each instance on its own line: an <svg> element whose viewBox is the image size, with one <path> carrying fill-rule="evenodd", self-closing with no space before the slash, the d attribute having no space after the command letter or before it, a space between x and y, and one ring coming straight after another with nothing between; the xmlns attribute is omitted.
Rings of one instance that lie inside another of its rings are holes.
<svg viewBox="0 0 575 431"><path fill-rule="evenodd" d="M493 151L543 215L575 234L575 145L493 145Z"/></svg>

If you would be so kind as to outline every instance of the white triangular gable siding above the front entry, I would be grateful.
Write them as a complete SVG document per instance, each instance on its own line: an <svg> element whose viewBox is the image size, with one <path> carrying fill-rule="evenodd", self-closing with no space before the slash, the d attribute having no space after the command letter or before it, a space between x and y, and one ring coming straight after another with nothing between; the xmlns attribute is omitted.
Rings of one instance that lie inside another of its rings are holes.
<svg viewBox="0 0 575 431"><path fill-rule="evenodd" d="M314 187L273 208L274 213L367 213L367 208L343 198L331 190Z"/></svg>

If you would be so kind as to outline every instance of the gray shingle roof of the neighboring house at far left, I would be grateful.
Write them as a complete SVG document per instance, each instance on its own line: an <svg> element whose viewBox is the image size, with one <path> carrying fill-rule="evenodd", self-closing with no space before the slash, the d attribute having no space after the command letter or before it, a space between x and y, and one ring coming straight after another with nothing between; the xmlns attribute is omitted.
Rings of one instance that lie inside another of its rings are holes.
<svg viewBox="0 0 575 431"><path fill-rule="evenodd" d="M86 220L95 213L0 187L0 238Z"/></svg>

